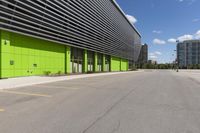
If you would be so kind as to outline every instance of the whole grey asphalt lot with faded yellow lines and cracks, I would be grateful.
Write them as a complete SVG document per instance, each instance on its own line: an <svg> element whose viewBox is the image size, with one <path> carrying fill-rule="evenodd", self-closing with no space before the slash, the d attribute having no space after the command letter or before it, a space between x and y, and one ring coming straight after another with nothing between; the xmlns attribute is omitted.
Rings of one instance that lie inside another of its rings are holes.
<svg viewBox="0 0 200 133"><path fill-rule="evenodd" d="M0 133L200 133L200 83L149 70L0 91Z"/></svg>

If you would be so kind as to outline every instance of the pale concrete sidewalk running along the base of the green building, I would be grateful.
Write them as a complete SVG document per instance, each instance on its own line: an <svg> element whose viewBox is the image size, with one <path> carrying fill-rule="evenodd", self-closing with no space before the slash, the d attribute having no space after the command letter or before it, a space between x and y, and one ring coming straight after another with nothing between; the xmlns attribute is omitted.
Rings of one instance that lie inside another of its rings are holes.
<svg viewBox="0 0 200 133"><path fill-rule="evenodd" d="M0 89L10 89L24 86L31 86L42 83L50 83L63 80L73 80L79 78L88 78L96 76L106 76L115 74L126 74L140 71L129 71L129 72L110 72L110 73L94 73L94 74L81 74L81 75L70 75L70 76L57 76L57 77L47 77L47 76L30 76L30 77L18 77L9 79L0 79Z"/></svg>

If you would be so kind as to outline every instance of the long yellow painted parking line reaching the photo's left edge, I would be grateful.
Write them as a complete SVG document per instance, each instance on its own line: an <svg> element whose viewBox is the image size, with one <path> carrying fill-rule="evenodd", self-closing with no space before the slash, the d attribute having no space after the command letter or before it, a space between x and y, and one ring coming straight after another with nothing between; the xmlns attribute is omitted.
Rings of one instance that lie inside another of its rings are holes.
<svg viewBox="0 0 200 133"><path fill-rule="evenodd" d="M50 95L45 94L36 94L36 93L27 93L27 92L19 92L19 91L10 91L10 90L2 90L0 93L9 93L9 94L17 94L17 95L27 95L27 96L37 96L37 97L48 97L50 98Z"/></svg>

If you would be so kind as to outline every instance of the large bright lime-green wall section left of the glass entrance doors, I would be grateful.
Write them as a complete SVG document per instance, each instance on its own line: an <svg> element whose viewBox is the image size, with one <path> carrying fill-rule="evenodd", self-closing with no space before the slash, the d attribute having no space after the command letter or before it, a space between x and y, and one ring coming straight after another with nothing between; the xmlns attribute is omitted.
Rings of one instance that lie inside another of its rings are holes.
<svg viewBox="0 0 200 133"><path fill-rule="evenodd" d="M1 78L43 75L45 71L70 72L70 47L11 32L0 32Z"/></svg>

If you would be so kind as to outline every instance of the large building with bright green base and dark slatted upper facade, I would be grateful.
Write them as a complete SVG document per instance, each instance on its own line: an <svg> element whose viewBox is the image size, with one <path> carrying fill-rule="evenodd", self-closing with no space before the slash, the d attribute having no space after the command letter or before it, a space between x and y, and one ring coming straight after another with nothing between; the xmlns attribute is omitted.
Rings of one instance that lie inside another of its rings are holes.
<svg viewBox="0 0 200 133"><path fill-rule="evenodd" d="M127 71L138 58L141 36L113 0L0 6L0 78Z"/></svg>

